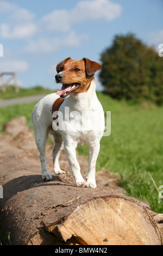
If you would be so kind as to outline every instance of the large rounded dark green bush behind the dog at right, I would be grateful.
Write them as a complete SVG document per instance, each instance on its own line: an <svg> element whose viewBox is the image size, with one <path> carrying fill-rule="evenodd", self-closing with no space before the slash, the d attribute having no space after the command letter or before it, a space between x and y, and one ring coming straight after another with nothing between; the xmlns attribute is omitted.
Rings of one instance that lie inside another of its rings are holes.
<svg viewBox="0 0 163 256"><path fill-rule="evenodd" d="M133 34L116 35L101 63L99 77L111 97L163 103L163 58Z"/></svg>

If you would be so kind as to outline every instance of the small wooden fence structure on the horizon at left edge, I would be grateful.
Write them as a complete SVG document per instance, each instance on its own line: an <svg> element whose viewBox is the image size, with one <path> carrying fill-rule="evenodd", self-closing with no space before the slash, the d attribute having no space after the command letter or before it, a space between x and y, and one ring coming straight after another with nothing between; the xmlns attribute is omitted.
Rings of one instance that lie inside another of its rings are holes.
<svg viewBox="0 0 163 256"><path fill-rule="evenodd" d="M4 76L9 76L7 81L4 81ZM19 92L18 84L17 84L17 78L16 78L16 73L15 72L1 72L0 73L0 78L1 78L1 91L5 92L6 86L9 85L9 83L13 80L14 85L15 85L15 92Z"/></svg>

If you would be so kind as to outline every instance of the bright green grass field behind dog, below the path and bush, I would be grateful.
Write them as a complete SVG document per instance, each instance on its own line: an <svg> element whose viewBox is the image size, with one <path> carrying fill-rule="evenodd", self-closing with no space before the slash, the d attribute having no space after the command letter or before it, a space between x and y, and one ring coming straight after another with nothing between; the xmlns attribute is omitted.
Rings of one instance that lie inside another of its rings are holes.
<svg viewBox="0 0 163 256"><path fill-rule="evenodd" d="M44 92L43 92L44 93ZM120 176L129 196L147 200L156 212L163 212L163 199L153 185L163 185L163 107L147 102L137 104L116 101L97 93L104 111L111 111L111 135L101 140L97 171L107 169ZM30 114L35 103L0 108L0 131L10 118ZM87 156L87 145L78 147Z"/></svg>

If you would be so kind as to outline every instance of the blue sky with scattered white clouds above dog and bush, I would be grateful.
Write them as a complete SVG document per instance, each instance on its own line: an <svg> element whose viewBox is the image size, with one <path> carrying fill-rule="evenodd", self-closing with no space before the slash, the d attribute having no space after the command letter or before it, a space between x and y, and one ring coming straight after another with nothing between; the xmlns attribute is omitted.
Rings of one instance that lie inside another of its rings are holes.
<svg viewBox="0 0 163 256"><path fill-rule="evenodd" d="M155 48L163 43L162 0L0 0L0 72L16 71L21 87L59 89L61 60L100 54L116 34L134 33ZM97 90L101 89L96 75Z"/></svg>

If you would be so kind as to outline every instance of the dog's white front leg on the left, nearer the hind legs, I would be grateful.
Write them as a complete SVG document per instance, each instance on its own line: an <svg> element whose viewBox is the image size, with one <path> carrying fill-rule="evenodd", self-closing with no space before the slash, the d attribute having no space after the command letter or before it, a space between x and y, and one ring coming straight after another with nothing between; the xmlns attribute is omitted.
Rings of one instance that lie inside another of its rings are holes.
<svg viewBox="0 0 163 256"><path fill-rule="evenodd" d="M68 141L68 144L64 143L64 147L72 176L76 182L77 187L86 187L87 183L84 181L82 174L80 173L80 166L76 157L77 143L74 141Z"/></svg>

